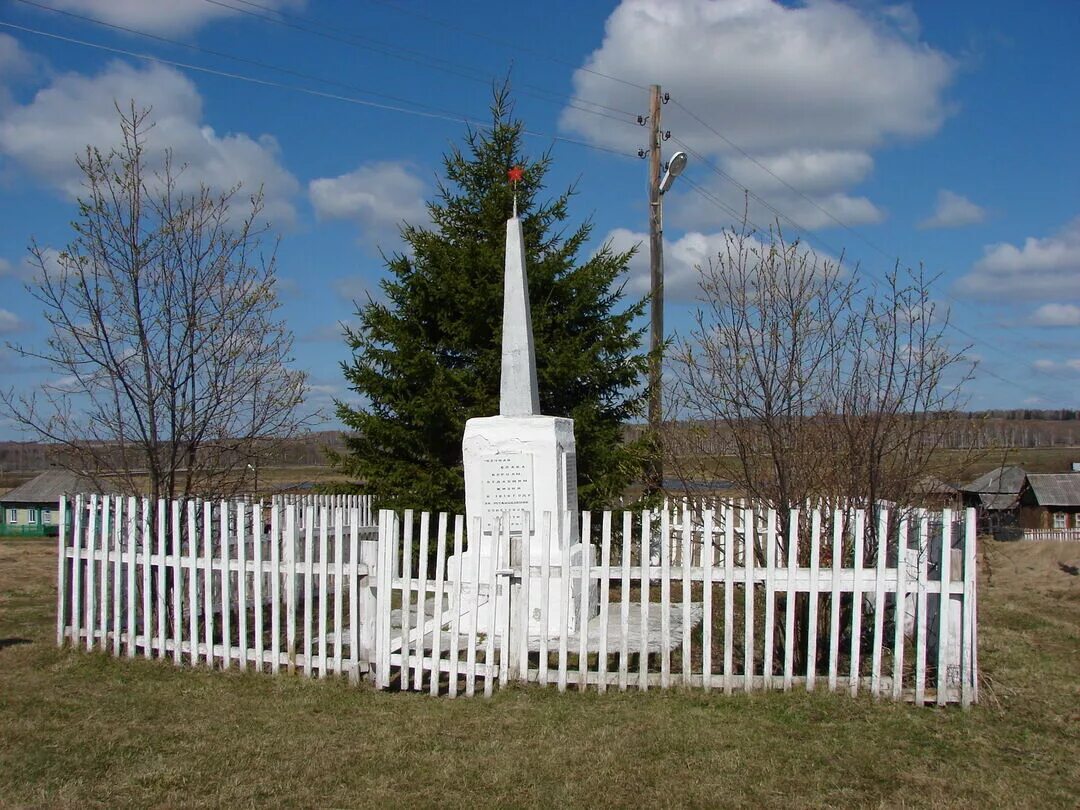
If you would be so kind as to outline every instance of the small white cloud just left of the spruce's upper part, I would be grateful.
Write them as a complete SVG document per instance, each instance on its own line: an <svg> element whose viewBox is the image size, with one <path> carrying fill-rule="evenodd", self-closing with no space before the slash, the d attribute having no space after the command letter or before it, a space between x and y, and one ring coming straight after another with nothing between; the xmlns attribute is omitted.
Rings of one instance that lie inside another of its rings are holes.
<svg viewBox="0 0 1080 810"><path fill-rule="evenodd" d="M308 193L320 218L356 222L361 242L370 248L396 243L402 222L428 222L424 183L405 163L367 163L337 177L320 177L308 185Z"/></svg>

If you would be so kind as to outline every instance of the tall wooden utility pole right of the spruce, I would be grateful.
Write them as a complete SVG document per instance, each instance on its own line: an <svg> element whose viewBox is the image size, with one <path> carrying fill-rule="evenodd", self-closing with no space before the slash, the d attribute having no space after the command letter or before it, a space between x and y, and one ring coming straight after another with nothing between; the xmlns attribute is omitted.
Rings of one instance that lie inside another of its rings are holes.
<svg viewBox="0 0 1080 810"><path fill-rule="evenodd" d="M652 325L649 332L649 434L653 455L646 473L646 491L663 487L664 464L660 446L663 420L661 368L664 342L664 245L663 214L660 207L661 129L660 85L649 87L649 291Z"/></svg>

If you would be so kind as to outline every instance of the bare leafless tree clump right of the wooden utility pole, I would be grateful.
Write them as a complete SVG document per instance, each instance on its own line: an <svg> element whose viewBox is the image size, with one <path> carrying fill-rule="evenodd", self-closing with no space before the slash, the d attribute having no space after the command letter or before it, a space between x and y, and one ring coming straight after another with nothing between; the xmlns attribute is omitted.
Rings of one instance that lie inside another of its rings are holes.
<svg viewBox="0 0 1080 810"><path fill-rule="evenodd" d="M970 376L922 272L867 284L779 228L729 230L701 272L672 401L699 446L732 445L718 475L780 510L913 502Z"/></svg>

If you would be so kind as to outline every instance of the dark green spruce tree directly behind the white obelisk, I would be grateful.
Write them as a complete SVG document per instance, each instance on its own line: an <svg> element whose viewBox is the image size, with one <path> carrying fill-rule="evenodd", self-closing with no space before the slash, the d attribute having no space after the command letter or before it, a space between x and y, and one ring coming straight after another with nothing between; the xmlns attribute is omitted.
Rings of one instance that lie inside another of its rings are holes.
<svg viewBox="0 0 1080 810"><path fill-rule="evenodd" d="M521 166L517 211L536 340L540 409L575 420L582 509L610 504L642 464L622 424L640 413L645 355L634 328L645 301L627 302L632 255L608 245L578 264L592 224L567 235L573 189L541 200L550 153L530 160L505 87L490 130L469 129L444 156L445 177L428 210L431 227L402 226L408 251L390 256L384 300L359 307L342 364L366 404L338 402L354 435L333 456L377 503L460 513L465 420L499 413L505 220L513 206L507 172Z"/></svg>

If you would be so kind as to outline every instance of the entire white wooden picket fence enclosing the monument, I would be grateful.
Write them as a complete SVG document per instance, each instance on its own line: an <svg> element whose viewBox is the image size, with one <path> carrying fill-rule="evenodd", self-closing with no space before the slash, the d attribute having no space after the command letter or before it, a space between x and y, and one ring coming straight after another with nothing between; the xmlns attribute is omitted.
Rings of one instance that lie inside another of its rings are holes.
<svg viewBox="0 0 1080 810"><path fill-rule="evenodd" d="M502 521L490 527L495 564L462 581L447 562L481 526L468 532L461 516L381 511L376 526L361 505L318 499L161 502L154 534L151 508L76 499L59 540L59 644L369 672L380 688L451 697L521 681L977 700L971 510L795 511L783 524L733 504L586 512L585 565L558 542L568 521L539 532L556 532L561 558L537 554L549 538L523 542ZM550 616L562 631L538 632Z"/></svg>

